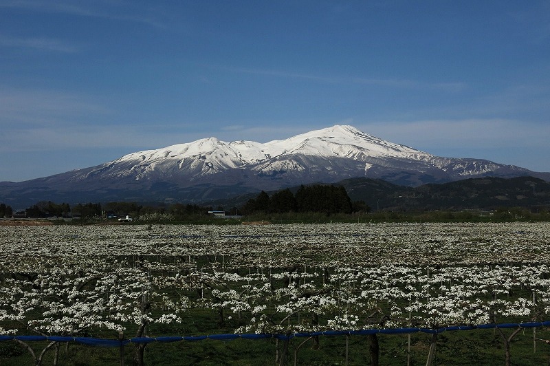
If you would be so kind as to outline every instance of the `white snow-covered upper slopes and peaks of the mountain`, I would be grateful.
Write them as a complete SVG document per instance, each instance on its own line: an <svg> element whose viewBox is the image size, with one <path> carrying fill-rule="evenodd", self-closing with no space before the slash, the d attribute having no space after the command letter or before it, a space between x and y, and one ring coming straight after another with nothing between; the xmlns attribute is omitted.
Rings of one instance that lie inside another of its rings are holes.
<svg viewBox="0 0 550 366"><path fill-rule="evenodd" d="M297 156L302 158L296 158ZM265 144L203 138L162 149L131 153L106 165L113 171L126 168L122 173L117 172L118 176L135 175L135 180L142 180L159 172L177 171L187 171L197 176L230 169L250 169L255 174L307 171L317 158L351 159L364 164L366 170L371 169L373 164L380 164L384 159L426 161L433 157L428 153L371 136L353 126L335 125ZM115 165L117 169L114 169Z"/></svg>

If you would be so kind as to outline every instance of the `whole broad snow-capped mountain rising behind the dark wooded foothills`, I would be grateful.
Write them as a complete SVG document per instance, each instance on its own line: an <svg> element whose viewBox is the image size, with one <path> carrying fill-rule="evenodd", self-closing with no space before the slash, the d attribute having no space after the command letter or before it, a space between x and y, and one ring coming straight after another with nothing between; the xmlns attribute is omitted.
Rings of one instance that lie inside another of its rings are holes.
<svg viewBox="0 0 550 366"><path fill-rule="evenodd" d="M87 169L21 183L3 182L0 202L23 196L30 202L201 202L349 177L418 186L487 175L550 179L550 173L488 160L437 157L336 125L265 144L204 138L130 153Z"/></svg>

